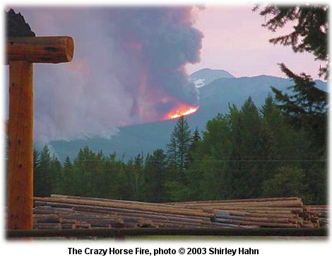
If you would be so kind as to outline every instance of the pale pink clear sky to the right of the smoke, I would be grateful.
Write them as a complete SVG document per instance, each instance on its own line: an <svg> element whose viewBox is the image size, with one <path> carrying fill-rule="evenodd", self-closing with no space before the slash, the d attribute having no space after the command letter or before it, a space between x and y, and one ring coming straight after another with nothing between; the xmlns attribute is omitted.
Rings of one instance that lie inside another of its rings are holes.
<svg viewBox="0 0 332 262"><path fill-rule="evenodd" d="M264 18L251 11L251 4L208 5L197 14L196 28L204 34L201 62L189 72L208 67L225 69L234 76L267 74L285 77L278 63L284 62L295 73L306 72L318 78L319 62L308 53L294 53L291 47L273 45L268 39L287 33L272 33L261 27Z"/></svg>

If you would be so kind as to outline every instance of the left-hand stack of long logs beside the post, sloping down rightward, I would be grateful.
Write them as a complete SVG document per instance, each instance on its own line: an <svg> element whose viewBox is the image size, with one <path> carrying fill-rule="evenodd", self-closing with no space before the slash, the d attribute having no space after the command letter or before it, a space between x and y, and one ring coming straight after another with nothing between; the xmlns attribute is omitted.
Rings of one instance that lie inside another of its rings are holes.
<svg viewBox="0 0 332 262"><path fill-rule="evenodd" d="M47 210L75 220L75 228L119 227L119 220L125 227L213 227L212 212L156 203L51 195L34 198L34 205L34 213Z"/></svg>

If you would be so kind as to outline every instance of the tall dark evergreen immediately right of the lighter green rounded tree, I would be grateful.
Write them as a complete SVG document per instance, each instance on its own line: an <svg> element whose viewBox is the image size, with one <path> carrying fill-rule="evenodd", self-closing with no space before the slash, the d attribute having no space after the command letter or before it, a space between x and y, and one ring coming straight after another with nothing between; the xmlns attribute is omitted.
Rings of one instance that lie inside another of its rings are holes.
<svg viewBox="0 0 332 262"><path fill-rule="evenodd" d="M229 163L225 180L227 198L257 198L261 195L268 148L259 110L249 97L241 110L230 108L227 118L230 133Z"/></svg>

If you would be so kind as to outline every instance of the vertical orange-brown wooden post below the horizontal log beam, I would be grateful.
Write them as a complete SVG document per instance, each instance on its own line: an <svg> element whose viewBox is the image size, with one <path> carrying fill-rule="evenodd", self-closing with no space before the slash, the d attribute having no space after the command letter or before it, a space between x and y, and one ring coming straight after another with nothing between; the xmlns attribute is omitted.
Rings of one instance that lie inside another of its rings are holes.
<svg viewBox="0 0 332 262"><path fill-rule="evenodd" d="M32 229L32 63L9 62L8 229Z"/></svg>

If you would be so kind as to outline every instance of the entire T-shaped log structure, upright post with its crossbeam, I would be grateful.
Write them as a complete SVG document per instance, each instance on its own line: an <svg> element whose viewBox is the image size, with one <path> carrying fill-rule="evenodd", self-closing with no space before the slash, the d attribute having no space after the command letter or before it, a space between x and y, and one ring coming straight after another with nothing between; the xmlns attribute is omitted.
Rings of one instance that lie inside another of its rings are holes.
<svg viewBox="0 0 332 262"><path fill-rule="evenodd" d="M73 38L8 38L8 229L32 229L33 205L33 76L32 63L73 59Z"/></svg>

